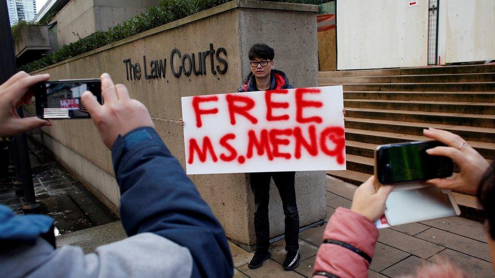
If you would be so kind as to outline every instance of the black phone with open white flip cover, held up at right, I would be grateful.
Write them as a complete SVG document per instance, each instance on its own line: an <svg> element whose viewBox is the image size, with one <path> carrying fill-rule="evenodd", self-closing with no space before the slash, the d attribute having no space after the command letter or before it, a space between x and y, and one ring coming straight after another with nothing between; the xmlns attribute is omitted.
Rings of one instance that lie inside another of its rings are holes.
<svg viewBox="0 0 495 278"><path fill-rule="evenodd" d="M432 150L448 148L444 143L447 143L446 140L405 142L377 147L377 186L384 187L380 187L380 183L400 184L395 187L385 203L388 224L400 225L461 213L450 190L435 188L426 182L445 181L448 180L445 178L452 175L451 156L432 155Z"/></svg>

